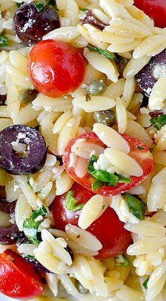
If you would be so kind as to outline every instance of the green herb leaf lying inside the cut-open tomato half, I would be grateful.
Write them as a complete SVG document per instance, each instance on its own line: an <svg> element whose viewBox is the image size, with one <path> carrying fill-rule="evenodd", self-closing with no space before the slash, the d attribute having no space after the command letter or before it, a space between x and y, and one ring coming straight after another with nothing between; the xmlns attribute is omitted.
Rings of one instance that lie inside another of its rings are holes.
<svg viewBox="0 0 166 301"><path fill-rule="evenodd" d="M91 185L93 191L98 190L102 186L116 186L117 183L130 183L129 178L125 178L124 176L120 176L117 173L108 173L108 171L103 171L102 169L95 169L94 162L97 161L95 155L92 155L89 164L88 164L88 172L91 176L96 178Z"/></svg>

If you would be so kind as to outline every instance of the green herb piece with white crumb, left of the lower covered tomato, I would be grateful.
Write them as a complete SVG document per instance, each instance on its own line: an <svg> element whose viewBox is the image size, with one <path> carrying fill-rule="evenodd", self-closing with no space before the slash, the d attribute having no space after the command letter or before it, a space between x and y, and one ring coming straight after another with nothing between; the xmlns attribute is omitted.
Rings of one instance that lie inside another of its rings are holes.
<svg viewBox="0 0 166 301"><path fill-rule="evenodd" d="M30 242L32 242L34 245L39 245L40 243L37 238L40 221L37 221L36 219L38 216L45 217L46 214L47 210L44 206L42 206L41 208L34 210L30 219L25 219L23 223L23 231Z"/></svg>

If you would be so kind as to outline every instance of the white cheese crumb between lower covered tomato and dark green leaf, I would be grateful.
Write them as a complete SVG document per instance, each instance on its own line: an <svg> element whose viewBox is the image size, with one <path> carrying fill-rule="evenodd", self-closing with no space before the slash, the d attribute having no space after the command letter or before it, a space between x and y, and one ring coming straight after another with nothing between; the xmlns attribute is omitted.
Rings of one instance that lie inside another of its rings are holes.
<svg viewBox="0 0 166 301"><path fill-rule="evenodd" d="M110 207L115 210L120 221L123 221L124 223L127 223L127 221L130 223L139 223L139 219L137 219L136 216L134 216L134 214L132 214L132 212L129 210L127 202L122 198L122 195L116 195L115 197L112 197Z"/></svg>

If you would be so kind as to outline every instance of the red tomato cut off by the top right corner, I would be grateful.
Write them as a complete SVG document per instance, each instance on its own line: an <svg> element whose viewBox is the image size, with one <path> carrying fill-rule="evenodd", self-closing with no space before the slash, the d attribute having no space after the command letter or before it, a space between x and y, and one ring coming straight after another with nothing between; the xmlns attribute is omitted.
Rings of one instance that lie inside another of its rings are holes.
<svg viewBox="0 0 166 301"><path fill-rule="evenodd" d="M134 0L134 5L153 18L155 26L166 27L165 0Z"/></svg>

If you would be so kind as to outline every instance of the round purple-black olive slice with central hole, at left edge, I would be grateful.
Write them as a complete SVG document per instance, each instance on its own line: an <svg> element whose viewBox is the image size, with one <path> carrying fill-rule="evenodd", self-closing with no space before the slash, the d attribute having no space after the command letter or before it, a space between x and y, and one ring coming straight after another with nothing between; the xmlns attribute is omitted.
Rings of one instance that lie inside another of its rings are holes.
<svg viewBox="0 0 166 301"><path fill-rule="evenodd" d="M46 142L34 128L11 125L0 132L0 167L8 173L36 173L44 166L46 152Z"/></svg>

